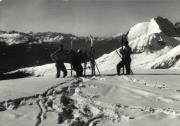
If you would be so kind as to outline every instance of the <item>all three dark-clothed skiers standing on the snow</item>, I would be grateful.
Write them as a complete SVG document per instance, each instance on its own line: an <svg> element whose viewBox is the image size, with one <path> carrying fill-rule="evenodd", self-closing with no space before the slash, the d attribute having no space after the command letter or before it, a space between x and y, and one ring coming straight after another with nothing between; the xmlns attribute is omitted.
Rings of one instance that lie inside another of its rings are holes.
<svg viewBox="0 0 180 126"><path fill-rule="evenodd" d="M60 48L56 52L51 54L52 60L54 60L54 54L55 53L61 53L63 51L64 51L64 46L61 44ZM121 58L121 61L116 66L117 75L121 75L121 74L129 75L129 74L131 74L132 50L128 44L126 35L124 35L122 37L122 46L120 47L119 52L117 51L117 53ZM63 77L66 77L67 76L67 69L64 65L64 61L62 59L58 59L58 60L54 60L54 61L56 62L56 64L55 64L56 70L57 70L56 77L57 78L60 77L60 71L63 72ZM72 69L76 72L77 77L83 76L83 67L81 65L81 63L83 61L84 61L84 57L82 55L82 52L80 49L78 49L75 52L75 54L71 57ZM126 73L124 73L124 68L126 70ZM123 69L123 70L121 70L121 69Z"/></svg>

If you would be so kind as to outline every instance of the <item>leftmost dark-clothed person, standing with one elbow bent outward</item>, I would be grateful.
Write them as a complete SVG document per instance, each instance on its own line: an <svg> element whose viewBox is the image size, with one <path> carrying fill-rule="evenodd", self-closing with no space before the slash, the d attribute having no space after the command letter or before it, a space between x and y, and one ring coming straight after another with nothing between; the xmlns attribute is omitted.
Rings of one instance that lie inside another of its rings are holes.
<svg viewBox="0 0 180 126"><path fill-rule="evenodd" d="M64 62L61 59L55 60L55 58L54 58L54 55L56 53L60 53L60 52L63 52L63 51L64 51L64 46L61 44L60 48L51 55L51 58L56 62L56 64L55 64L56 71L57 71L56 78L60 77L60 72L61 71L63 72L63 78L67 76L67 70L66 70L66 67L64 65Z"/></svg>

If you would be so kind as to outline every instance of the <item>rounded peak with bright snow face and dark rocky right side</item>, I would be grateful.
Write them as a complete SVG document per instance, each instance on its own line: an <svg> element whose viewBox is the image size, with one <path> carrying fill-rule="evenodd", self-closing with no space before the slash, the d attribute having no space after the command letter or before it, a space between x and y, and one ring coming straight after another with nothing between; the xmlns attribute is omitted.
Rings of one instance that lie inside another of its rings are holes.
<svg viewBox="0 0 180 126"><path fill-rule="evenodd" d="M165 23L164 23L165 22ZM168 22L168 23L167 23ZM162 17L151 19L149 22L138 23L129 30L128 40L133 51L157 51L180 44L175 27Z"/></svg>

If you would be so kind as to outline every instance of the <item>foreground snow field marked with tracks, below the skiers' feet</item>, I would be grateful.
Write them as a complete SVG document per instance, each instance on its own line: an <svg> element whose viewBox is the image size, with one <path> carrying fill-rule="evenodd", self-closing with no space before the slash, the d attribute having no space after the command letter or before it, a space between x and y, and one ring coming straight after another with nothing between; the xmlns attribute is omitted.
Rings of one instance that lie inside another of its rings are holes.
<svg viewBox="0 0 180 126"><path fill-rule="evenodd" d="M62 83L55 81L46 91L32 92L37 95L20 98L19 102L18 99L8 101L7 97L5 102L0 102L1 108L5 109L0 112L0 117L2 121L4 118L11 120L8 123L10 126L25 123L27 126L141 126L145 122L148 126L152 122L158 126L176 126L180 119L178 75L167 75L166 80L163 76L100 76L65 79ZM31 82L35 78L25 79ZM176 82L173 83L174 79ZM52 79L49 77L42 82L49 84ZM38 85L43 86L43 83ZM22 89L22 85L17 86ZM13 94L17 95L12 91ZM22 93L21 96L26 95ZM19 121L21 123L17 123ZM6 124L4 122L2 125Z"/></svg>

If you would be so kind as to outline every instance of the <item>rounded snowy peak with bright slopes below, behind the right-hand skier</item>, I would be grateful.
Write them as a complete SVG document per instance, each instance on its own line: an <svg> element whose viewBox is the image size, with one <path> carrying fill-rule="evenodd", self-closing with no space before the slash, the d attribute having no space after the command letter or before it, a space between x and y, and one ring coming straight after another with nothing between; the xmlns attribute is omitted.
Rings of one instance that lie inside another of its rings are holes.
<svg viewBox="0 0 180 126"><path fill-rule="evenodd" d="M134 25L128 41L134 54L133 68L167 69L180 67L180 34L165 18L152 18ZM101 69L113 70L120 58L116 51L105 54L97 62Z"/></svg>

